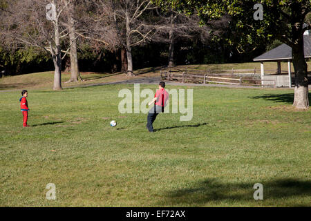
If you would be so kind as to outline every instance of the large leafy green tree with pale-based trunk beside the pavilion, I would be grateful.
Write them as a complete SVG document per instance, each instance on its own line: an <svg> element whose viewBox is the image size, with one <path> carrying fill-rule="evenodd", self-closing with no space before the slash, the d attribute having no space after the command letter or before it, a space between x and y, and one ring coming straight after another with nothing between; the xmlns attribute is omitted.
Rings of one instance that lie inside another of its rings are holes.
<svg viewBox="0 0 311 221"><path fill-rule="evenodd" d="M205 23L223 15L231 15L234 19L231 26L234 26L235 35L238 35L240 48L272 39L288 44L292 48L295 76L293 106L309 108L308 66L303 54L303 32L311 29L310 20L305 19L311 11L310 0L168 1L173 8L189 14L197 13ZM168 1L156 0L160 6ZM263 8L262 18L258 17L258 8L253 8L256 3L260 3Z"/></svg>

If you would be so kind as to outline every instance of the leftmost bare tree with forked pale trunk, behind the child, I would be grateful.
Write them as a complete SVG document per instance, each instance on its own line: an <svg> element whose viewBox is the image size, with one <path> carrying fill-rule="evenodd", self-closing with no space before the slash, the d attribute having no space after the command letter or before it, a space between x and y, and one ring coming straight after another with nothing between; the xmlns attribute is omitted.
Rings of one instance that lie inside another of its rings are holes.
<svg viewBox="0 0 311 221"><path fill-rule="evenodd" d="M70 49L61 48L62 39L68 35L61 16L68 3L69 0L8 1L7 12L1 15L5 18L1 37L6 46L35 46L50 53L55 67L53 90L62 89L62 59Z"/></svg>

